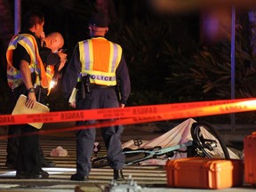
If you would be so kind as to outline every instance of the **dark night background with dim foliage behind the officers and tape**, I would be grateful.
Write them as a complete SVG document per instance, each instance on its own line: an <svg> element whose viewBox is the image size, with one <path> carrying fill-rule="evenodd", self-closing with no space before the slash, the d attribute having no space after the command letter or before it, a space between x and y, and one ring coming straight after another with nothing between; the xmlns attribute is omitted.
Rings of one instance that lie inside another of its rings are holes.
<svg viewBox="0 0 256 192"><path fill-rule="evenodd" d="M12 21L8 28L11 30L14 5L13 0L7 2ZM211 44L202 41L200 10L172 14L156 12L148 0L107 0L101 6L97 2L23 0L21 16L34 8L44 12L45 33L59 31L65 38L64 48L68 49L70 57L76 43L89 37L87 27L92 12L100 9L107 12L107 37L123 47L130 71L132 93L127 106L231 98L230 40L220 39ZM236 17L236 25L241 26L236 28L236 98L254 97L256 79L255 57L250 44L252 26L246 11L238 12ZM9 36L6 39L10 41ZM4 42L3 38L0 40ZM8 108L10 89L6 86L5 47L1 44L0 112L7 114L11 110ZM70 109L62 99L61 81L52 91L49 104L52 111ZM229 123L229 115L199 118ZM254 119L252 112L236 117L238 123L254 124Z"/></svg>

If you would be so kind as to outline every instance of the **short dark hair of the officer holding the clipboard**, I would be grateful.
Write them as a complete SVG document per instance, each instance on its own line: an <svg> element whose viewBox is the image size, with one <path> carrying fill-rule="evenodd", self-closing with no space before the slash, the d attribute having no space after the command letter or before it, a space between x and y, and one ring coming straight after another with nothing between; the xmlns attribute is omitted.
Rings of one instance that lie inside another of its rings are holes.
<svg viewBox="0 0 256 192"><path fill-rule="evenodd" d="M32 28L36 24L42 24L43 22L44 14L38 10L31 10L24 15L22 27Z"/></svg>

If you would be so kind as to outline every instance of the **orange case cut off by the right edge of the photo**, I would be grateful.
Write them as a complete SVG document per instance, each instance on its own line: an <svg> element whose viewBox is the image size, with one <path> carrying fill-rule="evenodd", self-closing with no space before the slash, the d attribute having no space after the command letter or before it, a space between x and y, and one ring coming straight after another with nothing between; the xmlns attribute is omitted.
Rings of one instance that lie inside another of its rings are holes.
<svg viewBox="0 0 256 192"><path fill-rule="evenodd" d="M244 138L244 182L256 186L256 132Z"/></svg>

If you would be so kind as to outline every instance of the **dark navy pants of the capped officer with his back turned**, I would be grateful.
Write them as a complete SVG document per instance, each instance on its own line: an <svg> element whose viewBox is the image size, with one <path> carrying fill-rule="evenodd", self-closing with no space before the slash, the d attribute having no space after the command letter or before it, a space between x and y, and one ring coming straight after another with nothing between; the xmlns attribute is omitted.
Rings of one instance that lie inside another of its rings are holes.
<svg viewBox="0 0 256 192"><path fill-rule="evenodd" d="M78 91L76 100L77 109L119 107L116 91L111 88L95 88L90 93L86 93L85 99L81 98ZM76 125L93 123L95 123L95 120L79 121L76 122ZM121 143L123 126L103 127L100 128L100 131L107 148L109 166L116 170L122 169L125 158ZM76 131L76 172L80 176L88 176L91 171L91 156L95 136L96 130L93 127Z"/></svg>

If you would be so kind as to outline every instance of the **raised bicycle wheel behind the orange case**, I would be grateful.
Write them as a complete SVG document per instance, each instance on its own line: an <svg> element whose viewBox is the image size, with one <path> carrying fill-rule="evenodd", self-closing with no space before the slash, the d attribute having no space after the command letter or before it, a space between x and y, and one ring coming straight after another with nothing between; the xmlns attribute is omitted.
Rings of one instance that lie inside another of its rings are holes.
<svg viewBox="0 0 256 192"><path fill-rule="evenodd" d="M230 159L226 144L212 124L197 122L192 124L190 131L195 147L201 150L204 156Z"/></svg>

